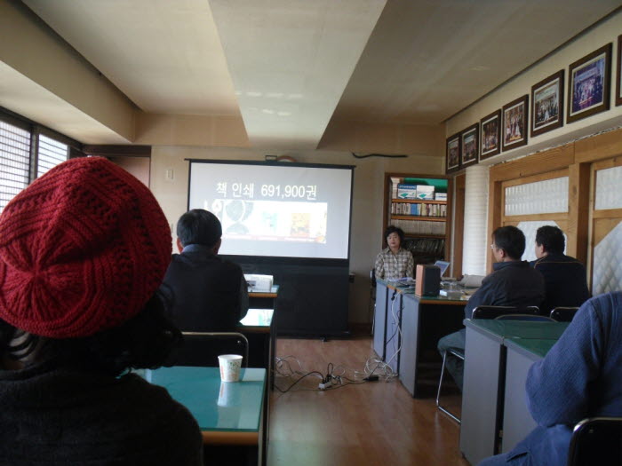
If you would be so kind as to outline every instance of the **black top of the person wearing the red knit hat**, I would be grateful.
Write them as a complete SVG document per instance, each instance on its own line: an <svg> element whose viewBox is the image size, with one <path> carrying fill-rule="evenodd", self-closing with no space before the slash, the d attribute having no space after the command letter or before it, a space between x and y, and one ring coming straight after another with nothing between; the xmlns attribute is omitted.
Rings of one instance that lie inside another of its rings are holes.
<svg viewBox="0 0 622 466"><path fill-rule="evenodd" d="M138 375L57 367L0 370L0 464L201 466L186 407Z"/></svg>

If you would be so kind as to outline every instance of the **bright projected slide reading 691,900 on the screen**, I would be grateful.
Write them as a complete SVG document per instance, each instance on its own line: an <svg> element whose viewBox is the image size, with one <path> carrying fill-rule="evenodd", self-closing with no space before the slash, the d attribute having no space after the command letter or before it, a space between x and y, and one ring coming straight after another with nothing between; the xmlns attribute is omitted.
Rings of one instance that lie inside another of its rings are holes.
<svg viewBox="0 0 622 466"><path fill-rule="evenodd" d="M222 224L220 254L347 258L352 171L191 162L190 209Z"/></svg>

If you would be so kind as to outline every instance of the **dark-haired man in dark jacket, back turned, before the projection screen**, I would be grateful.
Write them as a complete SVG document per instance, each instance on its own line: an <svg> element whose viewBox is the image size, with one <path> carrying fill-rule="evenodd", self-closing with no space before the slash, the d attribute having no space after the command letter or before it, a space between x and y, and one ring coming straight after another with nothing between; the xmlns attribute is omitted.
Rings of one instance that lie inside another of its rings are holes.
<svg viewBox="0 0 622 466"><path fill-rule="evenodd" d="M248 288L239 265L217 256L219 219L203 209L179 218L177 247L164 277L174 304L171 319L186 331L235 330L248 311Z"/></svg>

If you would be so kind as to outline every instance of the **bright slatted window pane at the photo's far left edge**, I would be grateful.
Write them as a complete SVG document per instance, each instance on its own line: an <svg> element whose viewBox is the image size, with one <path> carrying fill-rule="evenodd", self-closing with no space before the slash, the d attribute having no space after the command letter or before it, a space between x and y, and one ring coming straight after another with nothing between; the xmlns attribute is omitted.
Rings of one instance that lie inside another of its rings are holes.
<svg viewBox="0 0 622 466"><path fill-rule="evenodd" d="M0 120L0 213L28 186L30 133Z"/></svg>

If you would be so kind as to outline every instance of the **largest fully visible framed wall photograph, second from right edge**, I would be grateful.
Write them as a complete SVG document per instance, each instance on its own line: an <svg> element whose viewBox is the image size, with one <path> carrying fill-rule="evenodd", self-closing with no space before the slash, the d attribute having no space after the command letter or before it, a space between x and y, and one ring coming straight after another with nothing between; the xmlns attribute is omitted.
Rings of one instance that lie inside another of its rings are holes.
<svg viewBox="0 0 622 466"><path fill-rule="evenodd" d="M610 75L610 43L570 65L567 122L609 110Z"/></svg>

